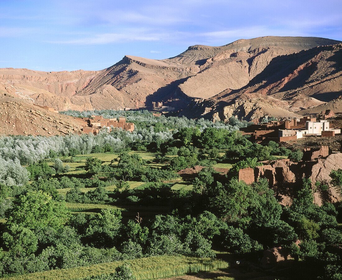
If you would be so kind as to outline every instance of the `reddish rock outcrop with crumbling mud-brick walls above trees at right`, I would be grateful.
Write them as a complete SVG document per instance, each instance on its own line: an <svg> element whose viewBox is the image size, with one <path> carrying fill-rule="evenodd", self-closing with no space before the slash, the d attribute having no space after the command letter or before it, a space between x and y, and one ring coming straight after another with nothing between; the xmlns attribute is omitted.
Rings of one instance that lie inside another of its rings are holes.
<svg viewBox="0 0 342 280"><path fill-rule="evenodd" d="M322 146L320 149L307 149L307 152L309 155L307 160L304 159L298 164L289 160L277 160L254 169L240 169L238 179L250 184L257 182L259 178L266 178L282 205L292 203L293 183L303 177L309 178L312 182L314 203L321 205L324 202L340 201L340 193L330 184L330 173L331 170L342 169L342 153L331 154L328 146ZM316 182L327 184L328 190L317 189Z"/></svg>

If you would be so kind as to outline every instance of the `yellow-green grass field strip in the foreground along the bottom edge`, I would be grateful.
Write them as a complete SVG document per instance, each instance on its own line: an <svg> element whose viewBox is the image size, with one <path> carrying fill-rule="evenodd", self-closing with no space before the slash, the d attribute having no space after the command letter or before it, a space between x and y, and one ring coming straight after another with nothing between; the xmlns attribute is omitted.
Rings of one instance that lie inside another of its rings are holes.
<svg viewBox="0 0 342 280"><path fill-rule="evenodd" d="M228 263L213 258L195 258L186 256L154 256L127 261L137 280L156 279L183 275L189 272L209 271L226 268ZM77 280L91 275L108 274L123 262L89 265L67 269L57 269L44 272L30 273L26 275L0 278L7 280Z"/></svg>

